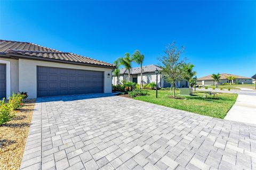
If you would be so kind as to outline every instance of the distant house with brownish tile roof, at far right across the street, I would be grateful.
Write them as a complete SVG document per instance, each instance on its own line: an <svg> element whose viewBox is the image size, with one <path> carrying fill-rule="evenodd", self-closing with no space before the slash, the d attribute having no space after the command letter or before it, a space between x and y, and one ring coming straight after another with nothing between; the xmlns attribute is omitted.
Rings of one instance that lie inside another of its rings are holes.
<svg viewBox="0 0 256 170"><path fill-rule="evenodd" d="M231 75L231 74L226 74L226 73L220 74L219 84L221 85L223 83L230 83L230 80L227 79L228 76L236 77L236 79L233 80L234 84L252 84L252 78L250 78L250 77L237 76L237 75ZM198 85L215 85L212 75L200 77L197 79L196 83Z"/></svg>

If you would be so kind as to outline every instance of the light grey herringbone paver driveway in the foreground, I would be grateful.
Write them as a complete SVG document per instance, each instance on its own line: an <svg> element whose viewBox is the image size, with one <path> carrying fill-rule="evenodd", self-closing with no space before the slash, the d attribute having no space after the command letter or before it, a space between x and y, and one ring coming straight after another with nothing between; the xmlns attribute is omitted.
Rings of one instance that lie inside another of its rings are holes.
<svg viewBox="0 0 256 170"><path fill-rule="evenodd" d="M256 126L107 94L37 100L21 169L255 169Z"/></svg>

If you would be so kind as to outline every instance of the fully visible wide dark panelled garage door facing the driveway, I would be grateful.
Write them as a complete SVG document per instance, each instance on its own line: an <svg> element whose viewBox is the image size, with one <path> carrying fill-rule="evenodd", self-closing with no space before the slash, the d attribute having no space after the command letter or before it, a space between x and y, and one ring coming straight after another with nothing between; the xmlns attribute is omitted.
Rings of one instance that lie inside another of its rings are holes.
<svg viewBox="0 0 256 170"><path fill-rule="evenodd" d="M37 67L37 96L103 93L103 72Z"/></svg>

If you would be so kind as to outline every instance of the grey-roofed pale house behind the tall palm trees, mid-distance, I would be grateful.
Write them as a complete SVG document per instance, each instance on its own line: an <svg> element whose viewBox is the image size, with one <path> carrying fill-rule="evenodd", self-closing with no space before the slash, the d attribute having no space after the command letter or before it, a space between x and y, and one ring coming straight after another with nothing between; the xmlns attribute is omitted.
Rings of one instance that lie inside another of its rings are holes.
<svg viewBox="0 0 256 170"><path fill-rule="evenodd" d="M156 83L156 74L155 74L156 69L159 70L158 80L157 80L158 87L171 87L170 83L166 82L166 80L164 79L164 75L161 74L162 68L154 64L142 67L142 83L143 84L148 84L151 82ZM140 70L141 70L140 67L132 68L130 70L131 72L130 82L140 84L141 82ZM126 70L125 68L120 69L120 74L118 78L117 76L112 76L112 84L117 85L119 83L122 83L123 80L126 80L126 81L129 80L128 70ZM188 83L186 80L182 80L180 82L177 82L176 85L177 87L187 87Z"/></svg>

